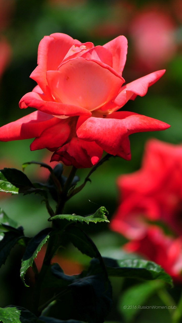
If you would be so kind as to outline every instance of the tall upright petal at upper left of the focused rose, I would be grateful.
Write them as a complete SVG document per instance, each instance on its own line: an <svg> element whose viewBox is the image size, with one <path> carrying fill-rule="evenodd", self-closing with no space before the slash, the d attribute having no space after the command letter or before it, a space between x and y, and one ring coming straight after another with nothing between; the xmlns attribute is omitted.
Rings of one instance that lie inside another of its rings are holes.
<svg viewBox="0 0 182 323"><path fill-rule="evenodd" d="M51 93L47 85L46 71L56 70L73 44L74 39L62 33L44 36L40 41L38 66L31 73L30 77L38 83L42 91L49 95L50 98Z"/></svg>

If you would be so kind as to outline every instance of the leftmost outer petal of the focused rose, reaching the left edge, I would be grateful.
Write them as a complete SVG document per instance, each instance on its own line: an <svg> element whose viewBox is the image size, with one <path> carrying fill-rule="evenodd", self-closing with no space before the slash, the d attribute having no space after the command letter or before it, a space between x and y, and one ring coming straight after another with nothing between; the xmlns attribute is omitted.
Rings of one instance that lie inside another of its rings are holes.
<svg viewBox="0 0 182 323"><path fill-rule="evenodd" d="M57 122L59 122L59 119L50 114L34 111L1 127L0 140L10 141L39 137L43 130Z"/></svg>

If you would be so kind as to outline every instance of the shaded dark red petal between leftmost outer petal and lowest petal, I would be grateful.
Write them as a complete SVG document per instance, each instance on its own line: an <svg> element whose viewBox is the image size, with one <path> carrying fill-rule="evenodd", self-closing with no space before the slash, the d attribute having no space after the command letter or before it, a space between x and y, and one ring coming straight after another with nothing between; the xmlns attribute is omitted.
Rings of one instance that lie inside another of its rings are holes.
<svg viewBox="0 0 182 323"><path fill-rule="evenodd" d="M70 135L70 127L64 120L60 120L52 127L45 129L40 137L30 145L30 150L47 148L50 151L55 151L61 147Z"/></svg>

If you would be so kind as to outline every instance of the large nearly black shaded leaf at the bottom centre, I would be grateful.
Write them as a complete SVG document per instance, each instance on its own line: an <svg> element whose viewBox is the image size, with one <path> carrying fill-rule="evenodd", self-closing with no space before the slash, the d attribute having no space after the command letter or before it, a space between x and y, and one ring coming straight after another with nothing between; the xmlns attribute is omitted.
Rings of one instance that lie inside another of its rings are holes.
<svg viewBox="0 0 182 323"><path fill-rule="evenodd" d="M76 308L89 323L102 323L112 307L112 288L101 273L75 280L69 285Z"/></svg>

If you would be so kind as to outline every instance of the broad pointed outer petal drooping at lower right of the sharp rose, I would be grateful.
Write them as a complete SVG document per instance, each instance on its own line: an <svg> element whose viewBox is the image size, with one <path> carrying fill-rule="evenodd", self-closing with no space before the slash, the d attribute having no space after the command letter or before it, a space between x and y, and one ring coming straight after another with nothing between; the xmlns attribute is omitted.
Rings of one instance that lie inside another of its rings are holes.
<svg viewBox="0 0 182 323"><path fill-rule="evenodd" d="M117 155L123 139L143 131L165 130L170 126L162 121L129 111L114 112L107 118L80 117L77 136L87 141L96 141L106 152Z"/></svg>

